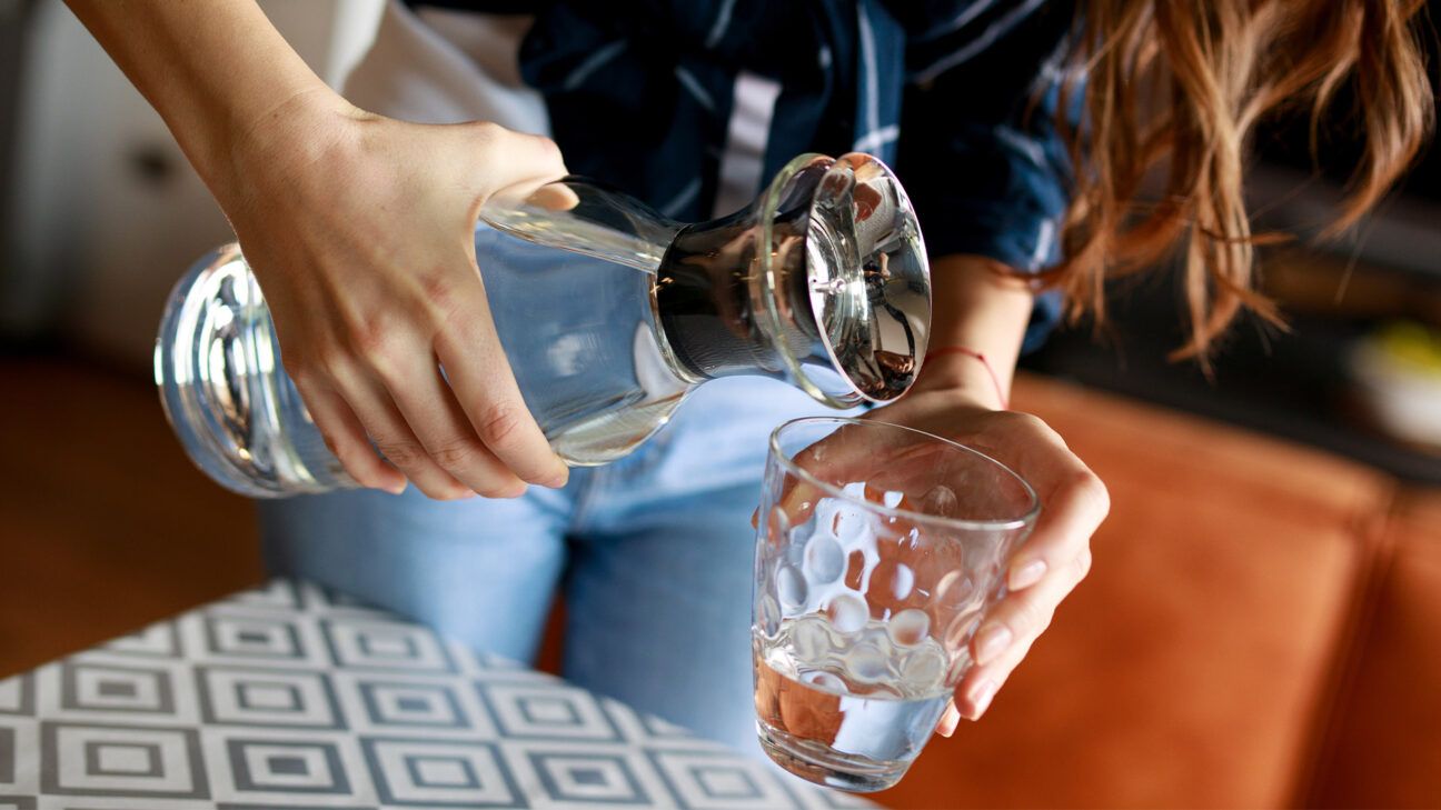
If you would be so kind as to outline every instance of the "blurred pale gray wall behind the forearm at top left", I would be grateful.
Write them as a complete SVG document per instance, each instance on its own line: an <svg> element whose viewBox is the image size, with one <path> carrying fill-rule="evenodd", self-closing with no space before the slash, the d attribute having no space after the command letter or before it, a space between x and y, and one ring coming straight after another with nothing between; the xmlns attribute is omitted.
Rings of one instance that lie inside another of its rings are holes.
<svg viewBox="0 0 1441 810"><path fill-rule="evenodd" d="M333 85L365 52L383 0L262 0ZM19 105L14 251L0 321L52 323L81 344L148 363L164 297L231 238L160 117L59 0L40 3Z"/></svg>

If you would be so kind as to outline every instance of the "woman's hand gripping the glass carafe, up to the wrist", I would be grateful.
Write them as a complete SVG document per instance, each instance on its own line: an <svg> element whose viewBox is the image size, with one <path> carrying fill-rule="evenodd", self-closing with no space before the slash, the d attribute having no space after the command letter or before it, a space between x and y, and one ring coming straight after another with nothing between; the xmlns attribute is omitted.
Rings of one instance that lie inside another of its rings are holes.
<svg viewBox="0 0 1441 810"><path fill-rule="evenodd" d="M285 369L356 481L399 493L409 479L434 499L565 484L501 352L474 248L490 195L565 174L550 140L383 118L318 88L262 115L225 163L212 192Z"/></svg>

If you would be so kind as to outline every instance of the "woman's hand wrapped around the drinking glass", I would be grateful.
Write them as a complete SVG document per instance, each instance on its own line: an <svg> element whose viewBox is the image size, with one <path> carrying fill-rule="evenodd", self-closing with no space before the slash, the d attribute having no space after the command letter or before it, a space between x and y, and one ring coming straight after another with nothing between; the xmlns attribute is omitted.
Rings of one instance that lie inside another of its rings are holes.
<svg viewBox="0 0 1441 810"><path fill-rule="evenodd" d="M1040 497L1040 517L1006 574L1006 597L991 607L971 640L976 666L955 687L937 734L950 736L961 718L978 719L1026 657L1061 601L1091 569L1091 535L1110 510L1105 484L1030 414L997 411L986 396L958 388L918 385L869 418L918 428L974 447L1023 477Z"/></svg>

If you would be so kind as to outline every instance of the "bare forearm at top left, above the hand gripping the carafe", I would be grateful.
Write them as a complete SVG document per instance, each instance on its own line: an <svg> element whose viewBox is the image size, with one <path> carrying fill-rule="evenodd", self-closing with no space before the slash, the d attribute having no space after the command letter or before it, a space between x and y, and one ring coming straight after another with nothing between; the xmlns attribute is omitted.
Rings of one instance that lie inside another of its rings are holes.
<svg viewBox="0 0 1441 810"><path fill-rule="evenodd" d="M254 0L66 0L219 196L233 150L297 99L339 101ZM269 125L268 125L269 124Z"/></svg>

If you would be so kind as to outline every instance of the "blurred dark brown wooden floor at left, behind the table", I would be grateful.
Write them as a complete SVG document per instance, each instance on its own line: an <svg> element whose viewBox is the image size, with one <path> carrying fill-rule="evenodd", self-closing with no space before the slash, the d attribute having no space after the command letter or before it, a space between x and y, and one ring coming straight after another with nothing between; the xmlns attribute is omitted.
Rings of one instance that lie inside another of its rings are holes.
<svg viewBox="0 0 1441 810"><path fill-rule="evenodd" d="M0 676L261 581L249 502L196 471L154 383L0 357Z"/></svg>

